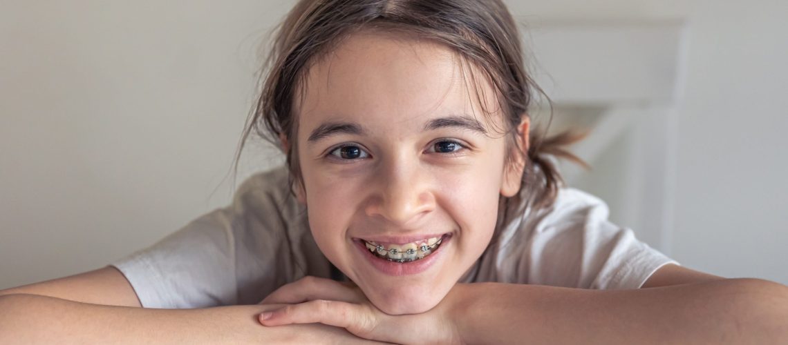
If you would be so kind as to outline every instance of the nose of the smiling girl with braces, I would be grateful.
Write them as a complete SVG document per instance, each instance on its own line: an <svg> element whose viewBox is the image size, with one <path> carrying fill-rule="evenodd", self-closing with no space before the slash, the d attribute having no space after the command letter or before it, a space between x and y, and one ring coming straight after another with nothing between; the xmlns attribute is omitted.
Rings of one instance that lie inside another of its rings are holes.
<svg viewBox="0 0 788 345"><path fill-rule="evenodd" d="M392 226L405 228L435 209L433 178L419 163L398 160L381 164L374 179L366 207L369 216L385 218Z"/></svg>

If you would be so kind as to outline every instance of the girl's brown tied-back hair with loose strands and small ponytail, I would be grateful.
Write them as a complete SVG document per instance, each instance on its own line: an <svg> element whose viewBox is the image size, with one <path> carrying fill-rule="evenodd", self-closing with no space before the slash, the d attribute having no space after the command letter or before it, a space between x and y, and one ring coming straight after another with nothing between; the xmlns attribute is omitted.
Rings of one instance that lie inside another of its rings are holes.
<svg viewBox="0 0 788 345"><path fill-rule="evenodd" d="M530 116L534 95L541 94L548 102L549 97L526 73L518 26L500 0L301 0L275 31L261 74L262 90L236 151L236 171L243 144L254 130L283 150L291 187L295 179L303 184L295 140L299 126L296 102L299 94L303 97L307 70L343 39L376 28L447 46L461 63L470 64L473 81L475 74L481 73L492 84L504 115L503 134L511 138L507 141L507 168L517 161L524 163L519 193L511 198L501 196L502 209L511 204L534 208L553 204L563 179L550 156L587 167L564 149L584 134L567 131L548 138L547 128L541 132L531 127L527 152L516 140L522 116ZM480 88L474 88L481 97ZM552 112L550 116L552 119ZM281 145L282 138L288 145ZM509 145L518 145L517 150ZM523 159L515 160L516 154Z"/></svg>

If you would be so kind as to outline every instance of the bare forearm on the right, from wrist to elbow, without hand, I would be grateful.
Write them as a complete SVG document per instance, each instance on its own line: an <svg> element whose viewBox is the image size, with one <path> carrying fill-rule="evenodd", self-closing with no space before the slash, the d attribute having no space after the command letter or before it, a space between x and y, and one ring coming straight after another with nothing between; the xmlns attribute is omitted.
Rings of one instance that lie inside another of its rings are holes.
<svg viewBox="0 0 788 345"><path fill-rule="evenodd" d="M477 285L477 286L472 286ZM779 343L788 288L723 280L600 291L470 284L456 313L464 343Z"/></svg>

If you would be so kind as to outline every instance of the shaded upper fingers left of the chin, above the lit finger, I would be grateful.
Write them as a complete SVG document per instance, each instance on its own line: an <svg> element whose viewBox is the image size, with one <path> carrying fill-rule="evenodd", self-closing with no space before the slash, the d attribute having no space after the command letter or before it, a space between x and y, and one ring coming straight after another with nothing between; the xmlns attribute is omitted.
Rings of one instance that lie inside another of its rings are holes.
<svg viewBox="0 0 788 345"><path fill-rule="evenodd" d="M266 299L263 299L259 304L295 304L313 299L361 303L365 298L359 288L353 284L307 276L277 288L277 291L266 296Z"/></svg>

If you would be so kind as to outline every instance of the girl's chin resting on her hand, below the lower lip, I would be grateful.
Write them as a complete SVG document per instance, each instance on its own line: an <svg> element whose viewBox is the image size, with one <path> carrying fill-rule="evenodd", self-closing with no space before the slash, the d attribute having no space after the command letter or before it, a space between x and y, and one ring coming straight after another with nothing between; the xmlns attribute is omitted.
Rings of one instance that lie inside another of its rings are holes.
<svg viewBox="0 0 788 345"><path fill-rule="evenodd" d="M379 293L366 294L370 302L385 314L421 314L433 309L446 293L423 288L393 288Z"/></svg>

